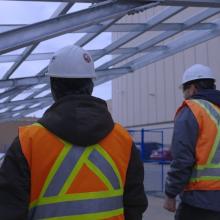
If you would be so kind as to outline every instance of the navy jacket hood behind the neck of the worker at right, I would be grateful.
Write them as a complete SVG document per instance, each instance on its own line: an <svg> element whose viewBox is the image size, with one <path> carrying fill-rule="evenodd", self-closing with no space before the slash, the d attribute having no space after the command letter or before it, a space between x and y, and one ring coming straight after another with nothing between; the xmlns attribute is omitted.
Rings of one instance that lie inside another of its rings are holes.
<svg viewBox="0 0 220 220"><path fill-rule="evenodd" d="M203 99L220 107L220 91L214 89L200 90L192 99Z"/></svg>

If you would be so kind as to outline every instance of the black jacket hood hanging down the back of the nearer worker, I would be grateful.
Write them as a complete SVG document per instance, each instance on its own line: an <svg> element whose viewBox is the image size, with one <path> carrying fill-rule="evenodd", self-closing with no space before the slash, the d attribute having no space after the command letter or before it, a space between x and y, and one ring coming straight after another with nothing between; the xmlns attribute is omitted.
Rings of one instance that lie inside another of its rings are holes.
<svg viewBox="0 0 220 220"><path fill-rule="evenodd" d="M98 143L114 127L105 101L89 95L66 96L39 120L56 136L79 146Z"/></svg>

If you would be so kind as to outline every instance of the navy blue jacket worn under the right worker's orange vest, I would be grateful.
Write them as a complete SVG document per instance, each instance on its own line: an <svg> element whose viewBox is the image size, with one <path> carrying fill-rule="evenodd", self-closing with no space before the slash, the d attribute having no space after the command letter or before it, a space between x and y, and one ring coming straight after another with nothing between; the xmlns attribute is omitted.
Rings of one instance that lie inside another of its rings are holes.
<svg viewBox="0 0 220 220"><path fill-rule="evenodd" d="M202 90L191 99L203 99L220 107L220 91ZM174 198L180 194L181 200L191 206L220 211L220 191L185 191L195 164L195 147L199 126L192 111L186 106L177 114L171 145L173 161L167 175L165 192Z"/></svg>

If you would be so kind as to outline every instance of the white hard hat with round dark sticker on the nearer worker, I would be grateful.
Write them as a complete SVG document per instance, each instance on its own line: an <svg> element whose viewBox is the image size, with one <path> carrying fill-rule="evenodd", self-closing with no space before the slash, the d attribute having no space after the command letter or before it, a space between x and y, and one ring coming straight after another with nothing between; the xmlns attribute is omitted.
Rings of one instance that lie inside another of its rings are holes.
<svg viewBox="0 0 220 220"><path fill-rule="evenodd" d="M58 78L96 77L91 55L75 45L66 46L54 54L46 75Z"/></svg>

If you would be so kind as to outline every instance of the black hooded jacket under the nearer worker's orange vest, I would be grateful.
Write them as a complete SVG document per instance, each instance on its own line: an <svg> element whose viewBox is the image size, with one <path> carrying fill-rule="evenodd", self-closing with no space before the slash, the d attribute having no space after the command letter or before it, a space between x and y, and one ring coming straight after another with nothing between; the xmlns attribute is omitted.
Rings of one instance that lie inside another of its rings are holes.
<svg viewBox="0 0 220 220"><path fill-rule="evenodd" d="M114 127L106 103L88 95L71 95L60 99L38 122L56 136L85 147L102 140ZM0 168L0 219L27 219L30 175L17 137ZM143 179L143 165L133 144L123 196L126 220L141 220L147 207Z"/></svg>

